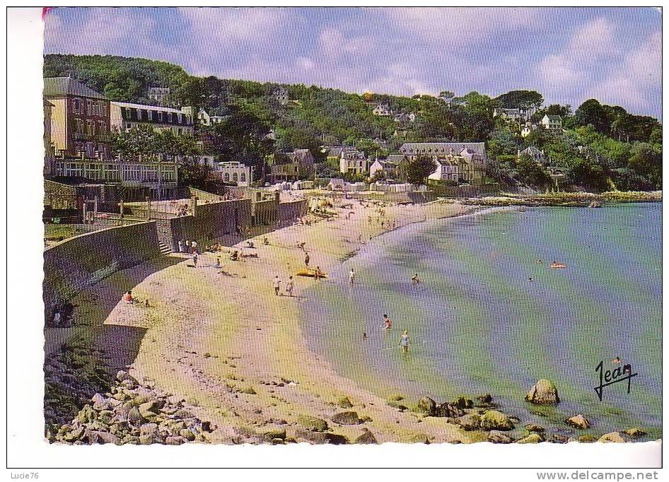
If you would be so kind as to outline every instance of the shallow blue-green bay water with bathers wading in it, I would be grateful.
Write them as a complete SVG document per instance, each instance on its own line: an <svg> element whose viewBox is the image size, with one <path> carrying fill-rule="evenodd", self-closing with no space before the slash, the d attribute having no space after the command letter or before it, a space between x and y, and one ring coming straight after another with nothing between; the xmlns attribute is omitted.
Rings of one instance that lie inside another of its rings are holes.
<svg viewBox="0 0 669 482"><path fill-rule="evenodd" d="M566 435L562 419L583 413L595 435L641 426L656 438L661 271L661 204L491 210L376 238L307 293L303 329L342 375L381 396L489 392L523 422ZM639 375L629 394L613 384L599 401L595 368L615 369L615 357ZM556 384L557 407L523 400L540 378Z"/></svg>

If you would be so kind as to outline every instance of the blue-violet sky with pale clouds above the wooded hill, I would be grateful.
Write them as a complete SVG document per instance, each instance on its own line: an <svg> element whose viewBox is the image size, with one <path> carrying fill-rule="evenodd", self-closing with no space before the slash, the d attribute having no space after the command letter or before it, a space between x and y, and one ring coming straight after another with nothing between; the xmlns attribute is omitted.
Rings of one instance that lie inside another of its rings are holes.
<svg viewBox="0 0 669 482"><path fill-rule="evenodd" d="M54 8L45 53L395 95L538 90L661 117L658 8Z"/></svg>

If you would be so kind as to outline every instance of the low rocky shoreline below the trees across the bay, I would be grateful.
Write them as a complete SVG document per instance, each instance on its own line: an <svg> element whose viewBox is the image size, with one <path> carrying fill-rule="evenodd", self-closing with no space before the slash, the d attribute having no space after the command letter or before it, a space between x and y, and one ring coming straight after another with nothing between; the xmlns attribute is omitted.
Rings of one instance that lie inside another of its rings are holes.
<svg viewBox="0 0 669 482"><path fill-rule="evenodd" d="M479 206L566 206L600 207L605 203L661 202L662 192L560 192L551 194L507 194L482 198L462 199L462 204Z"/></svg>

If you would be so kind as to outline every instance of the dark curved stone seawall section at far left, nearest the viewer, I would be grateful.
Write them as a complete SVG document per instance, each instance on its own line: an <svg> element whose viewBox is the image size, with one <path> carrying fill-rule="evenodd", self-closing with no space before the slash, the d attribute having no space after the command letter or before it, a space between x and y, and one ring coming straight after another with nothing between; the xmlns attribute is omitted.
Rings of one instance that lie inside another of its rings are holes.
<svg viewBox="0 0 669 482"><path fill-rule="evenodd" d="M56 307L79 291L158 254L158 233L153 221L78 235L45 249L45 319L49 321Z"/></svg>

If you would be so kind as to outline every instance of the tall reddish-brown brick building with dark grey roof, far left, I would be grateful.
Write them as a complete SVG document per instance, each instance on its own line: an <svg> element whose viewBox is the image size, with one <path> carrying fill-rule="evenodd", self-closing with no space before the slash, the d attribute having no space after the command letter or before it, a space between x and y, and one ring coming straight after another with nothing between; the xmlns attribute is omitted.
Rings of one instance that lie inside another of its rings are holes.
<svg viewBox="0 0 669 482"><path fill-rule="evenodd" d="M110 100L70 77L44 79L52 105L51 141L64 158L110 157Z"/></svg>

